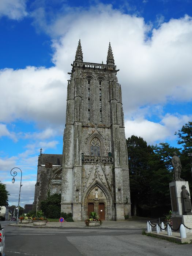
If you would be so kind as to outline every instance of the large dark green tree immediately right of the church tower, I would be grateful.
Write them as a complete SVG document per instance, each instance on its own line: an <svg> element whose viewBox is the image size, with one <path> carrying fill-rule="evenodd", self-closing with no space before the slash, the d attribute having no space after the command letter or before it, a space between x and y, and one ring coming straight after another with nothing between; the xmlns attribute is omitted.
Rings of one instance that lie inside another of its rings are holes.
<svg viewBox="0 0 192 256"><path fill-rule="evenodd" d="M127 139L129 155L130 192L133 215L137 208L155 212L155 208L170 207L169 182L172 174L161 154L147 146L143 138L132 135ZM151 213L153 215L153 213Z"/></svg>

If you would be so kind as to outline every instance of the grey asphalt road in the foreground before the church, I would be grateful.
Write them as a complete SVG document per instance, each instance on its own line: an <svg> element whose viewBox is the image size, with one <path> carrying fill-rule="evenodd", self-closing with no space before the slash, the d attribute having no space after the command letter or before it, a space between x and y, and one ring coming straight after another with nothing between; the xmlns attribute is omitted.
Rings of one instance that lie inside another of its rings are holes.
<svg viewBox="0 0 192 256"><path fill-rule="evenodd" d="M4 226L5 256L191 256L192 244L143 236L139 229L43 229Z"/></svg>

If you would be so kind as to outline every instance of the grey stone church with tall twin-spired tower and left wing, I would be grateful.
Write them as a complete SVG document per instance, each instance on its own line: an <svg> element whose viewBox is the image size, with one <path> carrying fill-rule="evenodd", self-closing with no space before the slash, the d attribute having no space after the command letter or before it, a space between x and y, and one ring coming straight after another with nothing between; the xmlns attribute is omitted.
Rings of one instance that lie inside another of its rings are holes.
<svg viewBox="0 0 192 256"><path fill-rule="evenodd" d="M40 209L49 191L61 193L61 212L74 221L91 211L101 219L131 216L128 154L121 86L112 48L107 63L83 62L78 44L68 74L63 154L41 154L38 159L34 209Z"/></svg>

